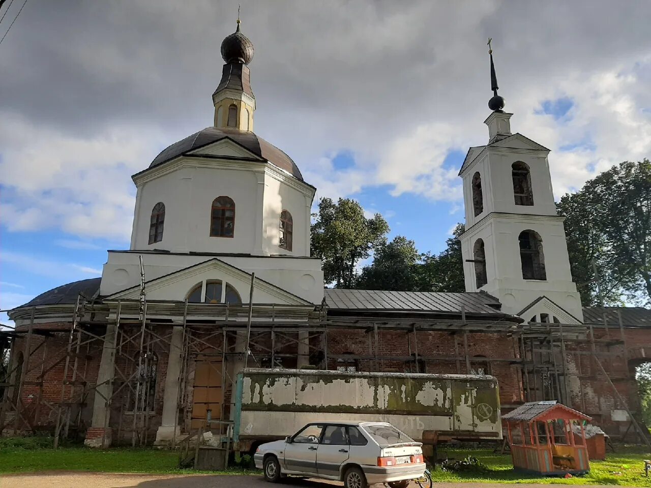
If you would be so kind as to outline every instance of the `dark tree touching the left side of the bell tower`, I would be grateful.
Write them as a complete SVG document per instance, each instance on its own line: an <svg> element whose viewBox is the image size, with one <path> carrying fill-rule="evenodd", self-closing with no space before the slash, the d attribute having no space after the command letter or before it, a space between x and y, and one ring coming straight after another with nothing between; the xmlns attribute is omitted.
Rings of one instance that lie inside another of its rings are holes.
<svg viewBox="0 0 651 488"><path fill-rule="evenodd" d="M457 224L454 237L447 239L447 248L441 254L426 254L421 267L421 290L465 291L464 259L459 237L465 231L464 224Z"/></svg>

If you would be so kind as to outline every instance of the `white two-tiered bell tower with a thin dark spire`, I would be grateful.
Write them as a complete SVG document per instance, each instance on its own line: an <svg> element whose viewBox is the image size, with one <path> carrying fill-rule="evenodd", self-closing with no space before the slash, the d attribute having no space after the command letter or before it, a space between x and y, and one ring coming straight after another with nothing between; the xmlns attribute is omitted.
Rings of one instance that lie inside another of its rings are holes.
<svg viewBox="0 0 651 488"><path fill-rule="evenodd" d="M465 232L460 237L466 291L486 291L502 310L525 320L583 321L572 282L563 219L556 212L549 149L512 133L497 94L490 49L492 113L488 144L471 147L463 179Z"/></svg>

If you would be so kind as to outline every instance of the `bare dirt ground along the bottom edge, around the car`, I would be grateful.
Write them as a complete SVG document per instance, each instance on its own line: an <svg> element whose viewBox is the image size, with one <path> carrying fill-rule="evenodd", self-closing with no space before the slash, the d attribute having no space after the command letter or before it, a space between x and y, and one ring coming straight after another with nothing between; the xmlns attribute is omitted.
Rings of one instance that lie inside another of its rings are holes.
<svg viewBox="0 0 651 488"><path fill-rule="evenodd" d="M0 488L270 488L262 476L152 475L46 472L0 475ZM277 488L330 488L342 486L336 481L288 478ZM381 486L381 485L378 485ZM518 484L518 488L541 488L544 485ZM504 488L499 483L436 483L436 488ZM590 488L600 488L596 485ZM613 488L613 487L602 487Z"/></svg>

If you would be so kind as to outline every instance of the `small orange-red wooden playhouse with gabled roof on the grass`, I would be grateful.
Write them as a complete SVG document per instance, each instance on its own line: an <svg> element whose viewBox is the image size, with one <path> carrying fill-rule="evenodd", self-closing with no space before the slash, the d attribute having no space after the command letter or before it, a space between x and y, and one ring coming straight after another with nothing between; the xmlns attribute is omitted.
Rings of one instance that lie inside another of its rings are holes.
<svg viewBox="0 0 651 488"><path fill-rule="evenodd" d="M513 467L547 475L590 470L584 422L592 420L556 400L530 401L502 416L508 427ZM573 426L581 435L574 435Z"/></svg>

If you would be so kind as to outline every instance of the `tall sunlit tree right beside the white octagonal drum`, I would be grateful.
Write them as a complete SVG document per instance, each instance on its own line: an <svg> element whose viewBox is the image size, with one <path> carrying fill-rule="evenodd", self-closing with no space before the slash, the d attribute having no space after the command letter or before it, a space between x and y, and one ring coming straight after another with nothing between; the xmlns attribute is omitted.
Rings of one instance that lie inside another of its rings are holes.
<svg viewBox="0 0 651 488"><path fill-rule="evenodd" d="M322 258L324 280L337 288L352 288L360 260L386 241L389 224L380 213L372 218L364 216L358 202L339 198L319 201L318 213L312 215L312 256Z"/></svg>

